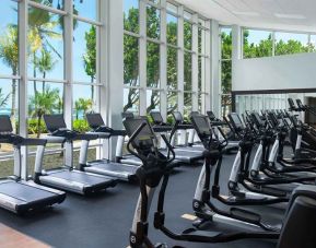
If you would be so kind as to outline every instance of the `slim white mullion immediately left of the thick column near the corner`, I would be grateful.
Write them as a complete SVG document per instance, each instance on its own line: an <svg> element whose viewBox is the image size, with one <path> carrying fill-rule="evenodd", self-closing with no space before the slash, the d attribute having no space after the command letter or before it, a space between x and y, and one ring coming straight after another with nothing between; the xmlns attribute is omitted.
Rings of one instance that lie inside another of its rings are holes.
<svg viewBox="0 0 316 248"><path fill-rule="evenodd" d="M204 59L204 80L202 80L202 85L204 83L204 90L207 95L203 97L204 98L204 108L206 110L211 109L211 22L208 20L206 21L206 27L208 31L206 31L206 56L207 58ZM203 88L203 87L202 87Z"/></svg>

